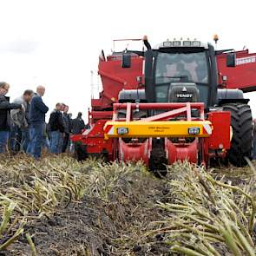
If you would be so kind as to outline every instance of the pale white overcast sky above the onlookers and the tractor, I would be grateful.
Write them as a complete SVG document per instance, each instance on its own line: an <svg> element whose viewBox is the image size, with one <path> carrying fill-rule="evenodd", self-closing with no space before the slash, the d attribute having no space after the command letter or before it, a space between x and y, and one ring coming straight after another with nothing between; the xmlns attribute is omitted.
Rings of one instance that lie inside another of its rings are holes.
<svg viewBox="0 0 256 256"><path fill-rule="evenodd" d="M0 81L10 83L12 99L42 84L50 109L66 102L74 115L86 113L90 70L96 71L101 49L110 53L113 39L212 42L217 33L219 49L256 52L255 7L255 0L0 0Z"/></svg>

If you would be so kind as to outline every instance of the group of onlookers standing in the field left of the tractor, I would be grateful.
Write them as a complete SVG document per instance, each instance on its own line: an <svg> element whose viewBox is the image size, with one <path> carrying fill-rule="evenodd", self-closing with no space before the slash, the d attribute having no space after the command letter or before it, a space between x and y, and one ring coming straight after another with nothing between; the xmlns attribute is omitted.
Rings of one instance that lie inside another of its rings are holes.
<svg viewBox="0 0 256 256"><path fill-rule="evenodd" d="M86 128L81 112L72 119L69 106L56 103L46 123L49 108L43 102L43 86L38 86L36 92L26 89L12 102L6 96L9 89L7 82L0 82L0 154L8 149L13 154L23 152L40 159L42 148L53 154L72 151L70 135L81 134Z"/></svg>

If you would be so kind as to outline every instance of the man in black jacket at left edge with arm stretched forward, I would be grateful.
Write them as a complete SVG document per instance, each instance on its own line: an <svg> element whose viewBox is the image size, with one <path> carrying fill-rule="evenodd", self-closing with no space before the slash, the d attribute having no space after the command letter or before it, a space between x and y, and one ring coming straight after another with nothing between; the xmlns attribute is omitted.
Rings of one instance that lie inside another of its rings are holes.
<svg viewBox="0 0 256 256"><path fill-rule="evenodd" d="M5 152L10 134L10 109L22 108L21 104L10 103L10 98L5 96L9 89L7 82L0 82L0 153Z"/></svg>

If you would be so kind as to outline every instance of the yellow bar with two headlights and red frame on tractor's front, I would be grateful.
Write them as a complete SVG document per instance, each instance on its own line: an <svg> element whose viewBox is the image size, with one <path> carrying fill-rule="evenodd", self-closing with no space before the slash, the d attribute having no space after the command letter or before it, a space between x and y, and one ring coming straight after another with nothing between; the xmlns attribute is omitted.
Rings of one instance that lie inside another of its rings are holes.
<svg viewBox="0 0 256 256"><path fill-rule="evenodd" d="M138 121L132 119L133 109L171 109ZM126 120L117 120L118 109L126 109ZM200 117L193 118L191 109L199 110ZM169 121L178 115L186 115L181 121ZM104 127L108 138L147 138L147 137L209 137L212 135L211 121L204 119L203 103L115 103L113 121Z"/></svg>

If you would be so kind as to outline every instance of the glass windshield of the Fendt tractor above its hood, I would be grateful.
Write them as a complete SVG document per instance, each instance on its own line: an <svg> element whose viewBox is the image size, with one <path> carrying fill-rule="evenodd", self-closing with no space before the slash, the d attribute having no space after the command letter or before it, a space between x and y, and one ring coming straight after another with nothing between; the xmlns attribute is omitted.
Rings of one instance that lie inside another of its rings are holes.
<svg viewBox="0 0 256 256"><path fill-rule="evenodd" d="M159 52L155 65L156 101L167 102L171 82L195 82L200 90L200 102L207 104L208 64L206 52Z"/></svg>

